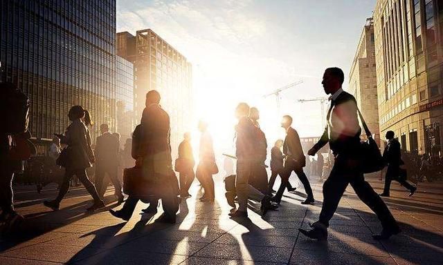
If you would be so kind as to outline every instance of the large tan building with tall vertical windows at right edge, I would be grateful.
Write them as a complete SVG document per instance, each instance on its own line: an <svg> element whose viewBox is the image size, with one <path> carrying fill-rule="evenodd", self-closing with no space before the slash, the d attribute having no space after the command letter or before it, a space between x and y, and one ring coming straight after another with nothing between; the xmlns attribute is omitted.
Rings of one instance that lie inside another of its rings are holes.
<svg viewBox="0 0 443 265"><path fill-rule="evenodd" d="M381 135L438 153L443 138L443 1L378 0L374 10Z"/></svg>

